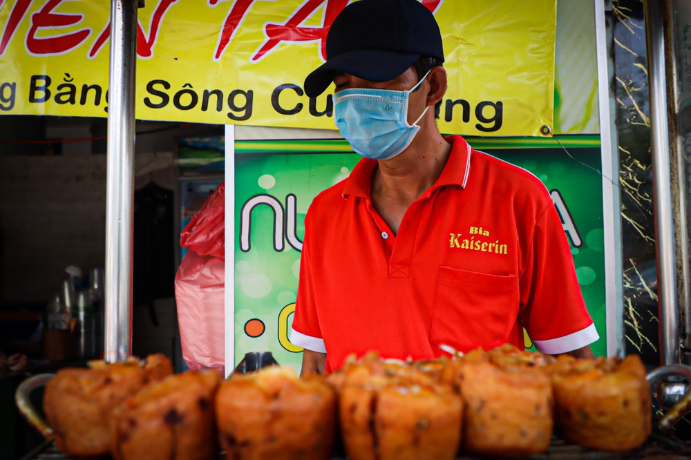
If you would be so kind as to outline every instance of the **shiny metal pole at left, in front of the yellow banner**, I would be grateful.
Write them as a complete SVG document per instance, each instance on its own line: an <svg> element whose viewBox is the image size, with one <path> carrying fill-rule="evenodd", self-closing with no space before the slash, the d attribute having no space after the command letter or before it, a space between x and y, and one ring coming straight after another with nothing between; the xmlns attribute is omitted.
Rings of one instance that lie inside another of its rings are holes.
<svg viewBox="0 0 691 460"><path fill-rule="evenodd" d="M106 178L105 360L131 354L135 66L138 0L111 1Z"/></svg>

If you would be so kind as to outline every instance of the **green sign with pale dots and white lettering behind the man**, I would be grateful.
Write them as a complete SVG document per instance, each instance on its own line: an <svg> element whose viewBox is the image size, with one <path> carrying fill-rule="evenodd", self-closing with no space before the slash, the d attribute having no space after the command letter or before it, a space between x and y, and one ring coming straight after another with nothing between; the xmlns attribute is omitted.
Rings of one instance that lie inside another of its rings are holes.
<svg viewBox="0 0 691 460"><path fill-rule="evenodd" d="M605 256L598 136L468 138L545 183L562 217L580 287L605 356ZM303 221L312 198L348 177L359 155L343 140L238 141L235 144L235 363L245 353L270 351L299 370L290 343ZM530 346L529 338L526 339Z"/></svg>

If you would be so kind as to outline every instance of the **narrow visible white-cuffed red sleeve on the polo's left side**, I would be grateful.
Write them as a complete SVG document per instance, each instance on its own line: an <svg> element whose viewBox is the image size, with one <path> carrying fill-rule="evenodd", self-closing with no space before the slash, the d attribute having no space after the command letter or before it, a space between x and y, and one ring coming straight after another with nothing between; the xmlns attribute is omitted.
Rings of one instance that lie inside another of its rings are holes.
<svg viewBox="0 0 691 460"><path fill-rule="evenodd" d="M319 315L314 299L314 273L310 263L311 251L310 213L305 216L305 238L300 255L300 275L295 303L290 342L313 352L326 353L324 339L319 327Z"/></svg>

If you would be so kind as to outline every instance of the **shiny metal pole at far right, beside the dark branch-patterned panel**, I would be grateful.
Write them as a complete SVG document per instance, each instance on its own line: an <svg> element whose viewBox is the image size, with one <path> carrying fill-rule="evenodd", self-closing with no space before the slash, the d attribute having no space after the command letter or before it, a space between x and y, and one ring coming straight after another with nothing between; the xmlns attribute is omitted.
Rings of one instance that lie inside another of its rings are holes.
<svg viewBox="0 0 691 460"><path fill-rule="evenodd" d="M676 311L676 255L674 215L670 189L670 140L665 71L665 32L658 0L645 0L650 131L655 209L660 345L663 364L679 363L679 326Z"/></svg>

